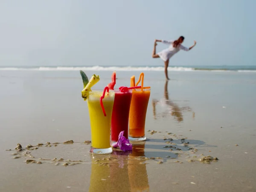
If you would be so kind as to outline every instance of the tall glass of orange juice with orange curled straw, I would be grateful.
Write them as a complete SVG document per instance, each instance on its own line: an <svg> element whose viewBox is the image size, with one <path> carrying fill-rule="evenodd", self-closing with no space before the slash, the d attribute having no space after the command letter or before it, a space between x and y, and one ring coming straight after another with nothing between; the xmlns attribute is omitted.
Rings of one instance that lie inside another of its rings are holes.
<svg viewBox="0 0 256 192"><path fill-rule="evenodd" d="M150 97L150 87L143 87L144 73L140 74L141 88L132 90L130 113L129 113L129 134L131 141L144 141L145 137L145 120ZM137 82L137 86L140 82ZM131 77L131 87L134 87L135 77Z"/></svg>

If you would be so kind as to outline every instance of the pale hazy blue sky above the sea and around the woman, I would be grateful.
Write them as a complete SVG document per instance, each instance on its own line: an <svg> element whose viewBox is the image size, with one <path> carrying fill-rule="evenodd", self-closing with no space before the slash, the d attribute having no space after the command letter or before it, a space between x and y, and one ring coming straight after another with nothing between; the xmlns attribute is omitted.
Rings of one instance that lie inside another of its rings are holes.
<svg viewBox="0 0 256 192"><path fill-rule="evenodd" d="M1 0L0 66L256 65L256 0ZM161 43L157 52L167 48Z"/></svg>

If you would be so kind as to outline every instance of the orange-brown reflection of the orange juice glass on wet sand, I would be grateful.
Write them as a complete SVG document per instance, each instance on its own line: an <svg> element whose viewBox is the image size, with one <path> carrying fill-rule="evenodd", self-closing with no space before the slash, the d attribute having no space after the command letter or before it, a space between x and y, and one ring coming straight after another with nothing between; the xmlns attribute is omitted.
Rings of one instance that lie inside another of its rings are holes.
<svg viewBox="0 0 256 192"><path fill-rule="evenodd" d="M145 160L145 142L140 144L133 143L132 153L128 159L128 173L131 185L131 192L148 192L148 174Z"/></svg>

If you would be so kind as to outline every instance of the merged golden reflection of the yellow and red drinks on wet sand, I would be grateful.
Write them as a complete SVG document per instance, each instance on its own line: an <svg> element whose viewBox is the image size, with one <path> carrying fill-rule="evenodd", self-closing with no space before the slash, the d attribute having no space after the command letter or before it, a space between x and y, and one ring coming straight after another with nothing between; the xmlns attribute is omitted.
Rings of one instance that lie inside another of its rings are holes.
<svg viewBox="0 0 256 192"><path fill-rule="evenodd" d="M92 154L89 192L131 192L128 175L129 153L130 151L113 151L109 155Z"/></svg>

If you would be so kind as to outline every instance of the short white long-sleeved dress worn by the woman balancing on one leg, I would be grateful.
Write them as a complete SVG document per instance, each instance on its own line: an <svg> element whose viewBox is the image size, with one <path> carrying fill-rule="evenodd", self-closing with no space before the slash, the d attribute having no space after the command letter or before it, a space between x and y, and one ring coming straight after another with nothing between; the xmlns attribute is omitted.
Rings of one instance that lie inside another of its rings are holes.
<svg viewBox="0 0 256 192"><path fill-rule="evenodd" d="M173 47L173 41L166 41L166 40L162 40L162 43L170 45L169 48L164 49L163 51L157 53L157 55L159 55L159 57L161 59L163 59L163 61L167 61L169 58L171 58L175 53L179 52L180 49L184 50L184 51L189 51L189 48L184 47L183 45L179 45L178 47Z"/></svg>

